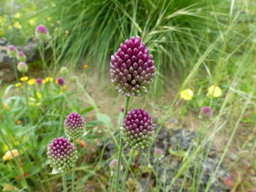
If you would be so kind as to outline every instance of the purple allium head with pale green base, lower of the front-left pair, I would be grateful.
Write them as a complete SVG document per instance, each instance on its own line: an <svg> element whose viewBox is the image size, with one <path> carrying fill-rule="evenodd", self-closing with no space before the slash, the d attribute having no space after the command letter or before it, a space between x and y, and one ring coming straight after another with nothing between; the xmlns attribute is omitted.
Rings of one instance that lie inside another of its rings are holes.
<svg viewBox="0 0 256 192"><path fill-rule="evenodd" d="M76 146L70 140L55 138L48 146L47 152L50 166L53 172L62 172L74 166L78 156Z"/></svg>

